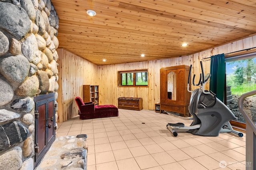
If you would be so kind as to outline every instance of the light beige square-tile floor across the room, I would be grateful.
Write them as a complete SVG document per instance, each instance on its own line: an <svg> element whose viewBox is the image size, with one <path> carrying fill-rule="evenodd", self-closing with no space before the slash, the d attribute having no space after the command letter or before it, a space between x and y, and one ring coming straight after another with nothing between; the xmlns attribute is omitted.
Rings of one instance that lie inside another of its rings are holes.
<svg viewBox="0 0 256 170"><path fill-rule="evenodd" d="M246 169L245 134L174 137L166 124L178 122L189 126L192 121L152 110L119 109L118 117L74 117L58 123L57 137L88 135L87 170Z"/></svg>

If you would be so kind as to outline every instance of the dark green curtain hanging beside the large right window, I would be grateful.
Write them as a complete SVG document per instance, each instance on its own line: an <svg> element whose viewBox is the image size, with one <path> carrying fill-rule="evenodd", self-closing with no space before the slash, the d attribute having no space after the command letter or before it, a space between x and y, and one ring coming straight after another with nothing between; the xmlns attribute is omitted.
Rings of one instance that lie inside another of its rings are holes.
<svg viewBox="0 0 256 170"><path fill-rule="evenodd" d="M210 90L216 94L216 97L224 102L225 89L225 61L224 53L211 57L210 65Z"/></svg>

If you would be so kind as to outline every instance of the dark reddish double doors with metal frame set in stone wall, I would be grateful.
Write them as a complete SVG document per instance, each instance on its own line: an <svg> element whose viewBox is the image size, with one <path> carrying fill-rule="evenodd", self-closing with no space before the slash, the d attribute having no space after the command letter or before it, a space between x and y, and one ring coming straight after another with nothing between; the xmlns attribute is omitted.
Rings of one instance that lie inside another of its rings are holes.
<svg viewBox="0 0 256 170"><path fill-rule="evenodd" d="M55 93L35 96L34 102L36 167L55 140Z"/></svg>

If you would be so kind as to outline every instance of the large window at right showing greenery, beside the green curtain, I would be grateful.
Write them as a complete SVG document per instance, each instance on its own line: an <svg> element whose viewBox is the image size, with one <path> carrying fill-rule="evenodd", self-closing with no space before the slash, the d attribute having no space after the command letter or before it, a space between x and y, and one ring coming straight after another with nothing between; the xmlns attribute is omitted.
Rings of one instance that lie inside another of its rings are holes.
<svg viewBox="0 0 256 170"><path fill-rule="evenodd" d="M225 59L226 63L226 104L237 117L231 124L245 129L246 121L238 109L239 97L256 89L256 53ZM256 123L256 96L244 100L244 107ZM244 125L243 125L244 124Z"/></svg>

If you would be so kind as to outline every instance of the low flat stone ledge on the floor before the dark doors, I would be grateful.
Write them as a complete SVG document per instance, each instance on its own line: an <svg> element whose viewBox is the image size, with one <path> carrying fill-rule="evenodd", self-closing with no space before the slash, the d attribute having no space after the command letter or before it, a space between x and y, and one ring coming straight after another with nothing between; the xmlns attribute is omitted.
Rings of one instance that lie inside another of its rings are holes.
<svg viewBox="0 0 256 170"><path fill-rule="evenodd" d="M86 170L87 135L58 137L35 170Z"/></svg>

